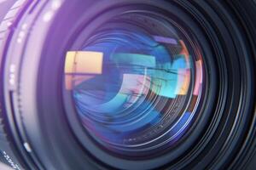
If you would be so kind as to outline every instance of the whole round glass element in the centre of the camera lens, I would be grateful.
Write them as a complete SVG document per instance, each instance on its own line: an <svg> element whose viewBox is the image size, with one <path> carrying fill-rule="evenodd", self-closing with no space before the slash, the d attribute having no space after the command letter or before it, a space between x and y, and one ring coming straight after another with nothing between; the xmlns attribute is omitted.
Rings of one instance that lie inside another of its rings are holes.
<svg viewBox="0 0 256 170"><path fill-rule="evenodd" d="M190 43L169 20L124 14L67 52L65 90L96 144L122 156L154 156L182 139L203 88L201 55Z"/></svg>

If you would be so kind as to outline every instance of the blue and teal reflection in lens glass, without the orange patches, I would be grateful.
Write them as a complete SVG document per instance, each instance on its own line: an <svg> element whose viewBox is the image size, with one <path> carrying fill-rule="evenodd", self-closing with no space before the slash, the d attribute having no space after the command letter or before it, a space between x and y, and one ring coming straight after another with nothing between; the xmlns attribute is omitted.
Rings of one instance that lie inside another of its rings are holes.
<svg viewBox="0 0 256 170"><path fill-rule="evenodd" d="M186 56L171 54L143 33L110 31L95 38L84 51L104 54L102 75L92 75L73 88L85 127L102 139L117 141L159 122L162 113L148 95L177 97L178 71L189 69Z"/></svg>

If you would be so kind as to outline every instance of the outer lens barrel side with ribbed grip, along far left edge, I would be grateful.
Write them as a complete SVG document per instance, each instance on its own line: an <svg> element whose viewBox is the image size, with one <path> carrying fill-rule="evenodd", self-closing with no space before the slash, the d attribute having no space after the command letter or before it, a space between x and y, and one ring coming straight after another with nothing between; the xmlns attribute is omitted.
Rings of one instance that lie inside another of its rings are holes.
<svg viewBox="0 0 256 170"><path fill-rule="evenodd" d="M4 62L4 56L5 56L5 48L6 45L9 42L9 35L12 34L13 29L15 29L15 23L18 22L19 15L22 13L25 7L25 1L2 1L0 3L0 48L1 48L1 57L0 57L0 64L1 64L1 70L3 69L3 62ZM2 70L3 71L3 70ZM2 72L1 71L1 72ZM3 75L1 74L1 77ZM3 79L1 78L1 82ZM14 169L22 169L22 167L25 166L25 159L22 159L21 154L18 150L20 147L20 144L17 144L15 142L15 138L19 138L18 133L12 133L15 128L13 128L12 124L14 122L9 119L9 116L6 115L4 111L6 111L5 108L5 101L3 99L3 84L1 83L1 104L0 104L0 116L1 116L1 126L0 126L0 132L1 132L1 142L0 142L0 150L1 150L1 161L4 164L9 165L9 167L12 167ZM10 115L11 116L11 115ZM9 121L7 121L9 119ZM15 130L16 131L16 130ZM10 135L12 133L12 135ZM21 147L22 146L21 144Z"/></svg>

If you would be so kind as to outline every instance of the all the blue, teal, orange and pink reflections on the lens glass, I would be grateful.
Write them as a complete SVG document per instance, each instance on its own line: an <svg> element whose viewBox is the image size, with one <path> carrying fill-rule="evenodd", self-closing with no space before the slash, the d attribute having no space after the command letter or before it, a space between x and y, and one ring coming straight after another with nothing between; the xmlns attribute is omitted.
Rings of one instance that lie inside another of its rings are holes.
<svg viewBox="0 0 256 170"><path fill-rule="evenodd" d="M65 87L73 92L84 127L98 142L114 148L150 144L142 138L150 136L143 134L150 127L168 131L169 140L180 139L195 114L203 76L201 59L192 59L176 37L129 31L99 37L101 41L66 56ZM193 102L188 104L189 93ZM183 103L173 106L181 98ZM166 127L166 117L178 121Z"/></svg>

